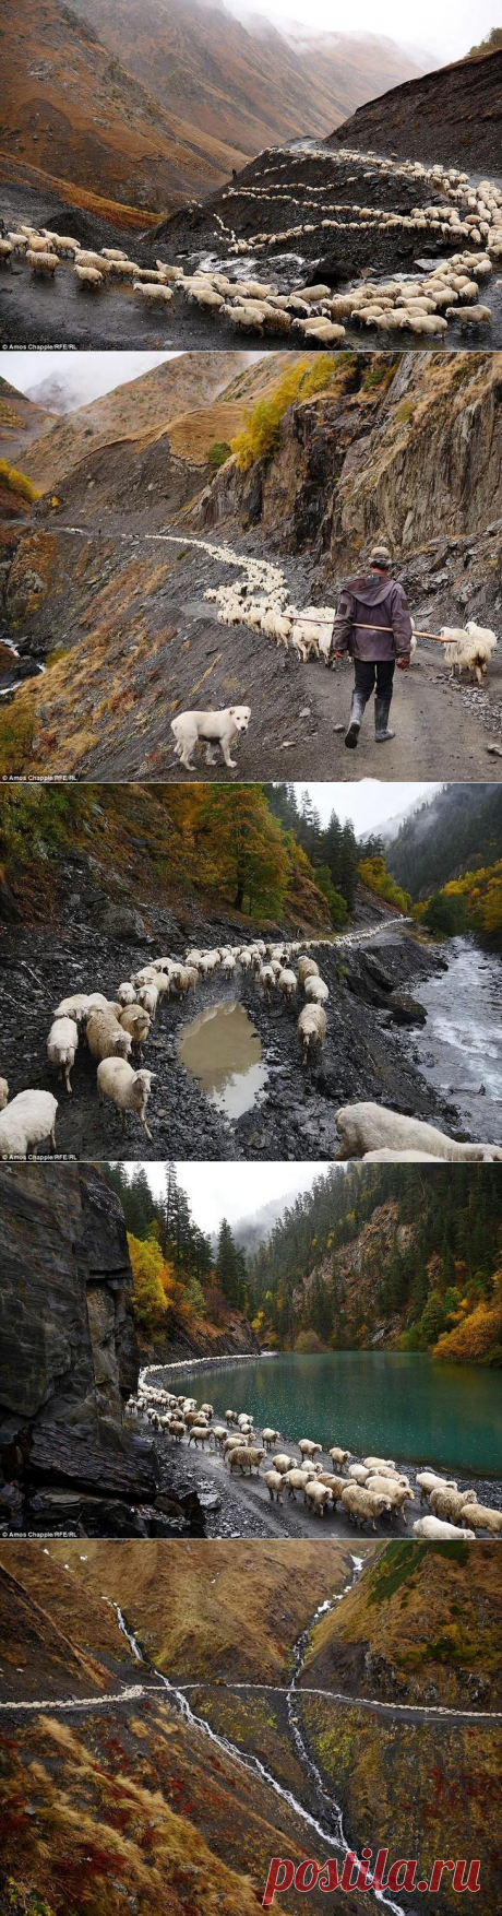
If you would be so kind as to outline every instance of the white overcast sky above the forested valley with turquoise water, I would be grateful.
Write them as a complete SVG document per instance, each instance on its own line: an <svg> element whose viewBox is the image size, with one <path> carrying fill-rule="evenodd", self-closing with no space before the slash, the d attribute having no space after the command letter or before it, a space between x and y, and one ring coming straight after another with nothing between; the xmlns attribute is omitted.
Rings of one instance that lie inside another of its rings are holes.
<svg viewBox="0 0 502 1916"><path fill-rule="evenodd" d="M128 1171L138 1169L128 1165ZM165 1165L142 1165L153 1196L165 1190ZM310 1165L176 1165L178 1182L186 1190L192 1217L199 1230L213 1232L220 1219L238 1224L243 1217L253 1217L272 1198L287 1199L297 1192L308 1192L316 1176L326 1176L326 1163Z"/></svg>

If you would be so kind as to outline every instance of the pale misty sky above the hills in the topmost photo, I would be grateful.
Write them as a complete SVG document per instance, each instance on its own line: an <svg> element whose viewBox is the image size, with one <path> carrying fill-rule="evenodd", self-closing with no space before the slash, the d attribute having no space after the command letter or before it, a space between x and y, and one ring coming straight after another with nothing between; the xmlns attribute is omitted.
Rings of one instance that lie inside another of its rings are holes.
<svg viewBox="0 0 502 1916"><path fill-rule="evenodd" d="M232 0L226 0L234 11ZM243 0L236 0L236 11L245 21ZM496 27L496 8L492 0L422 0L418 13L404 10L400 0L351 0L351 8L337 0L257 0L249 13L266 13L276 27L287 21L301 21L308 33L376 33L399 40L416 56L433 54L435 61L462 59L469 46L477 44ZM422 63L418 59L418 63Z"/></svg>

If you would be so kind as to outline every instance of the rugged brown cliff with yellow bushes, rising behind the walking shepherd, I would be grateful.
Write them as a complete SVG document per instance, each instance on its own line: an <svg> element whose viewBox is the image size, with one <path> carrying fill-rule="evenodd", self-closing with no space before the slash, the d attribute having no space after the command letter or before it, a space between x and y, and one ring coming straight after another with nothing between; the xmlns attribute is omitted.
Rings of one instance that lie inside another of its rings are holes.
<svg viewBox="0 0 502 1916"><path fill-rule="evenodd" d="M328 391L289 406L272 458L222 468L197 523L308 546L320 577L381 533L406 561L443 533L475 544L500 487L500 353L343 354Z"/></svg>

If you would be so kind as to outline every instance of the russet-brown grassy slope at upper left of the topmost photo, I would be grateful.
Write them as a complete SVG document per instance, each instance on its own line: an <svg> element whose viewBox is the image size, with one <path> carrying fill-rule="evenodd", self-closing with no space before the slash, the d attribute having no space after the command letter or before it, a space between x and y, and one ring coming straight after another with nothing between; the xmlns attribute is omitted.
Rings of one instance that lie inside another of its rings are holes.
<svg viewBox="0 0 502 1916"><path fill-rule="evenodd" d="M190 126L172 119L126 71L123 46L115 54L100 23L94 31L57 0L23 0L6 15L2 56L10 67L2 148L61 190L73 182L88 209L98 211L98 194L109 218L121 207L171 211L245 157L195 119Z"/></svg>

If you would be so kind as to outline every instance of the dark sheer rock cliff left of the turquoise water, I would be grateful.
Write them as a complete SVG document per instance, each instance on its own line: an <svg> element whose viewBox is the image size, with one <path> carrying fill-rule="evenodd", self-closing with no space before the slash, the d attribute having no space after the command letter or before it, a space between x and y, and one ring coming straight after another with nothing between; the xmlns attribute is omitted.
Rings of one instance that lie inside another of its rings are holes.
<svg viewBox="0 0 502 1916"><path fill-rule="evenodd" d="M42 1527L57 1494L69 1523L82 1498L138 1504L157 1471L123 1426L140 1358L121 1205L96 1167L11 1165L0 1215L2 1516Z"/></svg>

